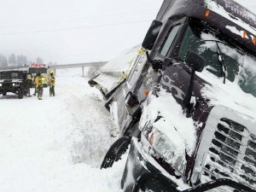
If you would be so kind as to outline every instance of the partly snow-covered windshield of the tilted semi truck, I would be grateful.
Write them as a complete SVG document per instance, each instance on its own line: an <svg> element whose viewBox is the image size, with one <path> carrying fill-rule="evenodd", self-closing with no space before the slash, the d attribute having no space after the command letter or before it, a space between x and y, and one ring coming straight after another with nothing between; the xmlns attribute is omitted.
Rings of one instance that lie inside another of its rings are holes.
<svg viewBox="0 0 256 192"><path fill-rule="evenodd" d="M205 59L205 70L216 75L223 83L227 79L239 84L241 90L256 97L256 58L225 40L201 22L191 21L178 58L185 61L187 52L193 50Z"/></svg>

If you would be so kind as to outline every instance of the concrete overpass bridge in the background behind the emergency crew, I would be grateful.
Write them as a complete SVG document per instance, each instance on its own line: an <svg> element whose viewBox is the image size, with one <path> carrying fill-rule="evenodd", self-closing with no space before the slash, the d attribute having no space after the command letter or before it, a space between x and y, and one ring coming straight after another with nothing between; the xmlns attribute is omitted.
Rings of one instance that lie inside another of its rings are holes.
<svg viewBox="0 0 256 192"><path fill-rule="evenodd" d="M49 66L52 70L55 71L57 69L63 69L63 68L81 68L82 69L82 76L84 77L84 67L96 67L100 68L104 66L107 63L107 61L99 61L99 62L84 62L84 63L73 63L73 64L62 64L62 65L53 65ZM26 69L27 65L20 66L20 67L1 67L0 70L12 70L12 69Z"/></svg>

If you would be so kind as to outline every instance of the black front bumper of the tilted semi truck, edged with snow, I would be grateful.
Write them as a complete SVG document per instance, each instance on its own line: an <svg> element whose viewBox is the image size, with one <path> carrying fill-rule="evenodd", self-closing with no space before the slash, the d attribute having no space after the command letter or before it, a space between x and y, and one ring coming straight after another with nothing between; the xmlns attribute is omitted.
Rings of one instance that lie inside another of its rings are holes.
<svg viewBox="0 0 256 192"><path fill-rule="evenodd" d="M183 188L187 189L177 189L181 187L178 184L182 184ZM125 192L147 191L147 189L152 192L202 192L220 186L228 186L244 192L256 192L246 185L225 178L189 188L189 185L171 176L150 155L145 153L137 138L131 140L131 148L121 181L121 187Z"/></svg>

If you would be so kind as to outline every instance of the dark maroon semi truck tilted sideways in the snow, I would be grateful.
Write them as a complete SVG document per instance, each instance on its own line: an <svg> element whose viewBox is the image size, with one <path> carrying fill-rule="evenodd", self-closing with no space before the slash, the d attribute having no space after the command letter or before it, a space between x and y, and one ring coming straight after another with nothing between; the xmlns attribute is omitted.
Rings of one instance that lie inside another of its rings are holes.
<svg viewBox="0 0 256 192"><path fill-rule="evenodd" d="M131 144L125 192L256 191L255 29L232 0L163 2L106 103L121 137L102 168Z"/></svg>

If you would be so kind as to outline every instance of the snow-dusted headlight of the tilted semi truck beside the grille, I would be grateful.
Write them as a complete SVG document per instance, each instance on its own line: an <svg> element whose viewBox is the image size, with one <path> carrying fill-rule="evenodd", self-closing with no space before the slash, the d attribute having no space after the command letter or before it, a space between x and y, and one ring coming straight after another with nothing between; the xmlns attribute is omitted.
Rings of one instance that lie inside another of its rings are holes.
<svg viewBox="0 0 256 192"><path fill-rule="evenodd" d="M175 138L174 138L175 139ZM179 150L177 144L157 129L148 134L148 142L154 151L173 166L178 172L184 174L186 168L185 149Z"/></svg>

